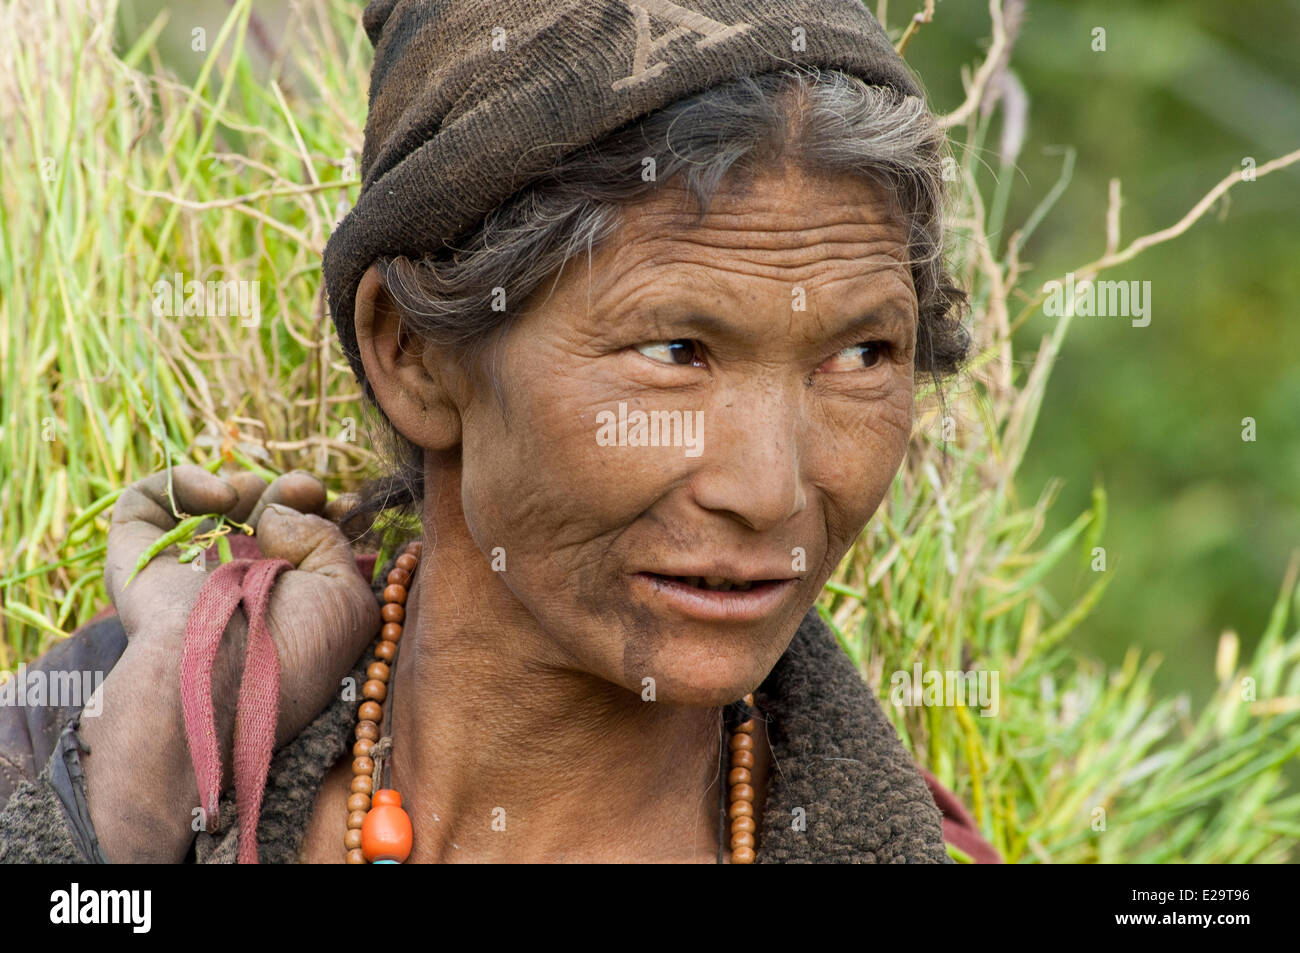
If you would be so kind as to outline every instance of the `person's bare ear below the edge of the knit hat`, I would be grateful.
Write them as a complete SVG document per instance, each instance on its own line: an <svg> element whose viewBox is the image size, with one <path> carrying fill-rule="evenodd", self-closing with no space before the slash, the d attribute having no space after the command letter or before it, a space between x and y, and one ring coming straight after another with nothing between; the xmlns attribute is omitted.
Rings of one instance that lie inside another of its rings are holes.
<svg viewBox="0 0 1300 953"><path fill-rule="evenodd" d="M452 395L464 393L464 376L450 355L403 328L377 265L361 277L352 315L365 377L398 433L426 450L459 446L460 407Z"/></svg>

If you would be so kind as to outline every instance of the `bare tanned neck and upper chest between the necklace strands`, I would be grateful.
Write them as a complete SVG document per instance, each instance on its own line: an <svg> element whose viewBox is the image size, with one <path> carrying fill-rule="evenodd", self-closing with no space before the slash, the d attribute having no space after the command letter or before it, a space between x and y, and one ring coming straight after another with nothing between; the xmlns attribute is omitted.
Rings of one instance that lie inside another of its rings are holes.
<svg viewBox="0 0 1300 953"><path fill-rule="evenodd" d="M408 862L712 862L722 711L558 664L455 537L425 542L390 681Z"/></svg>

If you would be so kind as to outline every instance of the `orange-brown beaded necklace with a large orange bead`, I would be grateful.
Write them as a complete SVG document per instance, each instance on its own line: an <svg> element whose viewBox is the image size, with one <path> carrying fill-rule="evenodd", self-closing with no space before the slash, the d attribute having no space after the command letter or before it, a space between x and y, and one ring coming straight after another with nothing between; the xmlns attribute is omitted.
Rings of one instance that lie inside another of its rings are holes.
<svg viewBox="0 0 1300 953"><path fill-rule="evenodd" d="M382 706L389 696L393 662L402 640L407 590L420 564L421 551L421 543L408 543L389 572L384 589L384 608L380 610L384 625L374 644L374 660L365 668L363 701L356 710L352 784L347 797L347 832L343 835L348 863L404 863L415 840L411 818L402 809L402 794L393 788L380 787L381 779L387 780L389 751L393 748L390 737L380 737L380 725L384 723ZM731 771L727 775L731 802L723 816L731 823L732 863L754 862L757 833L751 787L755 728L753 694L745 696L745 718L732 728L731 744L723 750L724 754L728 749L731 751ZM719 844L719 854L720 852Z"/></svg>

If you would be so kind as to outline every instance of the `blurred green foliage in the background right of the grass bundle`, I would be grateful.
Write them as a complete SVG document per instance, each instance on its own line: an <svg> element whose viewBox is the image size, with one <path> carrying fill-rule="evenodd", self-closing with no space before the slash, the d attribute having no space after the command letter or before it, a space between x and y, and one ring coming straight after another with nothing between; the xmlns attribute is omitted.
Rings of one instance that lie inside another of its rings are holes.
<svg viewBox="0 0 1300 953"><path fill-rule="evenodd" d="M898 0L889 10L900 21L911 13ZM910 46L939 104L959 101L953 65L976 61L987 25L984 4L944 0ZM1097 26L1105 52L1091 47ZM1297 42L1300 4L1287 0L1031 0L1014 56L1032 100L1030 133L1009 221L1056 177L1061 159L1046 147L1079 156L1026 259L1053 276L1100 254L1113 177L1127 239L1176 221L1243 157L1300 147ZM1105 482L1117 577L1078 644L1112 663L1130 644L1161 651L1156 684L1191 690L1196 703L1213 688L1206 663L1219 633L1253 645L1300 543L1297 218L1300 166L1291 166L1235 189L1188 234L1109 273L1152 282L1152 324L1076 322L1017 478L1028 491L1063 480L1049 528ZM1036 316L1018 343L1032 347L1049 322ZM1247 416L1254 443L1240 438ZM1062 569L1049 589L1063 598L1078 580Z"/></svg>

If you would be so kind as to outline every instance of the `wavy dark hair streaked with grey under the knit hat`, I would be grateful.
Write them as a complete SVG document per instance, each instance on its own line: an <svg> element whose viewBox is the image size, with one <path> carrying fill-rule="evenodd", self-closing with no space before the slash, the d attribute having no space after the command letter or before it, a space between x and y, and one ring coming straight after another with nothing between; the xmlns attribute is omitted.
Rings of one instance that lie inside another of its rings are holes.
<svg viewBox="0 0 1300 953"><path fill-rule="evenodd" d="M445 254L382 257L376 265L403 325L455 348L481 373L482 359L520 311L494 311L494 296L528 300L547 276L608 239L627 205L650 199L666 182L685 186L702 220L724 176L754 176L790 157L812 173L866 177L889 196L907 231L919 309L916 369L937 384L970 347L959 321L966 296L942 263L945 148L922 99L837 70L792 66L711 87L576 150ZM649 181L647 157L655 163ZM377 408L369 381L364 390ZM424 451L382 411L377 423L391 463L386 476L363 488L361 504L344 521L363 529L385 511L419 515L424 497Z"/></svg>

